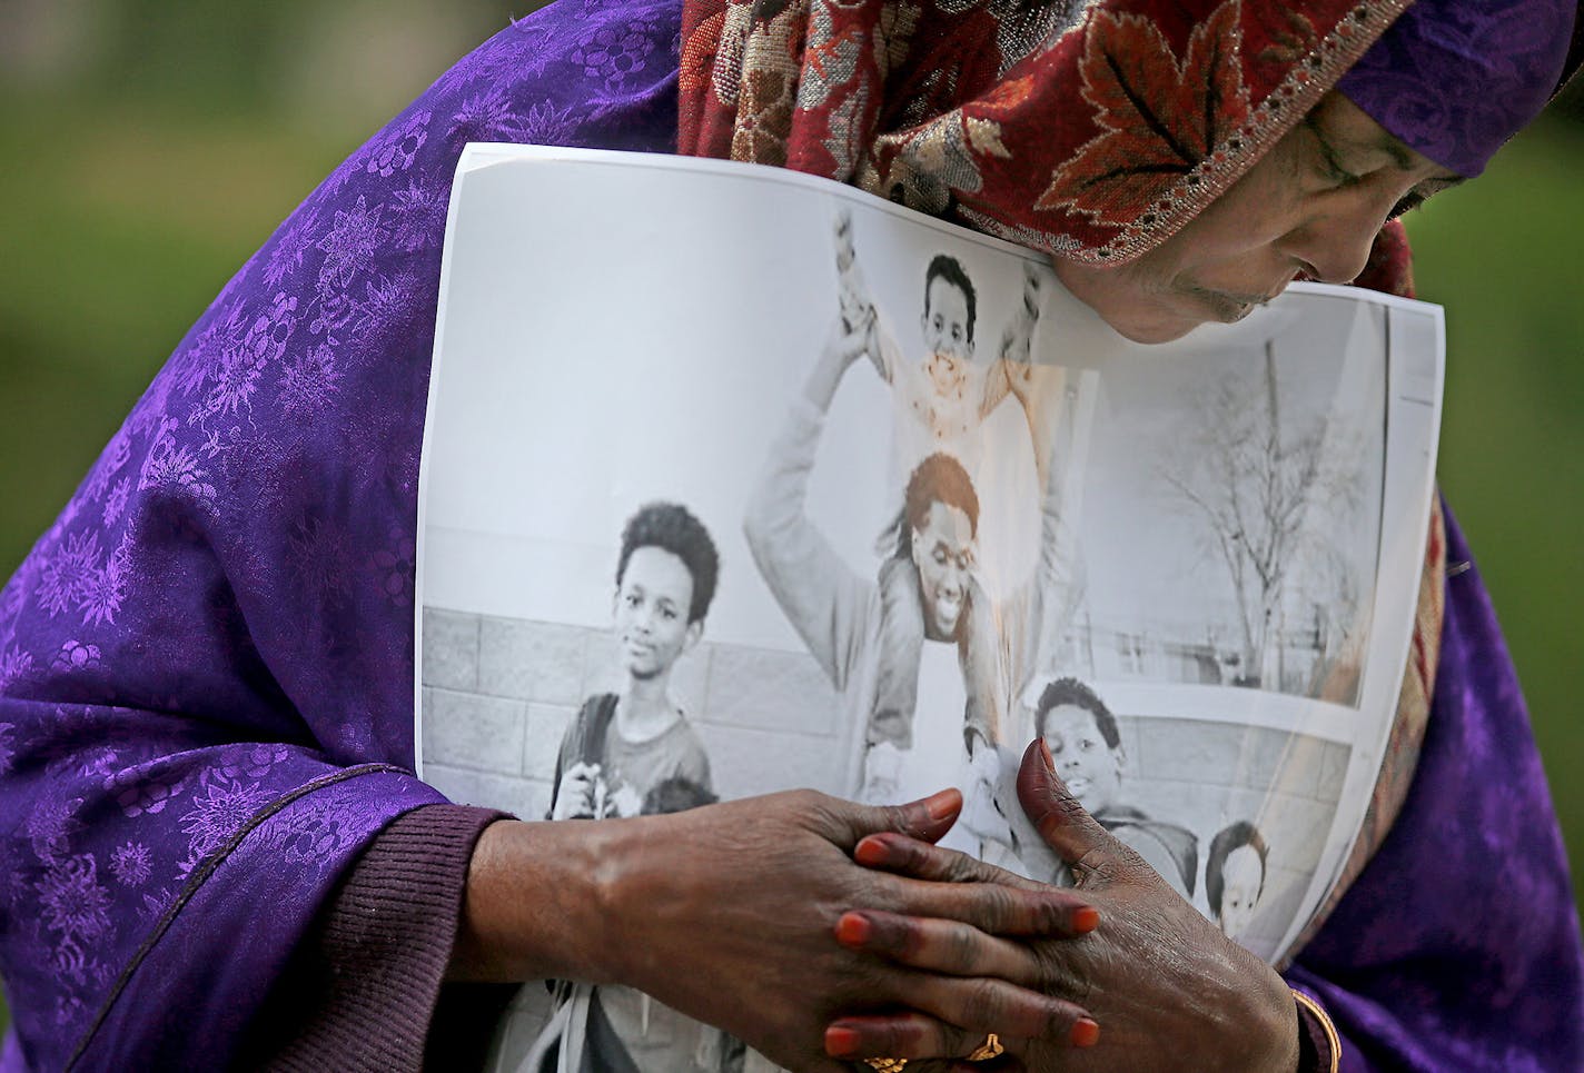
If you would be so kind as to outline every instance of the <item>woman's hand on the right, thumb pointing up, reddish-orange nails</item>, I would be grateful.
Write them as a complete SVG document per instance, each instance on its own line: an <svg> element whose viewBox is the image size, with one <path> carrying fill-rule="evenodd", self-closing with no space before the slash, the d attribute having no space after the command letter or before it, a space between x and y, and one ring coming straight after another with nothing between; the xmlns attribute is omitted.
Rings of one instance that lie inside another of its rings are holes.
<svg viewBox="0 0 1584 1073"><path fill-rule="evenodd" d="M1099 927L1060 942L1006 937L995 964L971 964L966 926L855 910L838 938L903 965L963 976L1001 976L1079 1003L1098 1022L1098 1043L1015 1040L1007 1052L1030 1070L1296 1070L1297 1011L1281 976L1221 935L1137 853L1114 839L1068 793L1044 742L1023 755L1017 779L1023 810L1072 869ZM897 834L870 836L854 856L917 878L1044 885L1020 880L961 853ZM920 1013L846 1016L825 1045L835 1057L927 1059L968 1056L984 1043Z"/></svg>

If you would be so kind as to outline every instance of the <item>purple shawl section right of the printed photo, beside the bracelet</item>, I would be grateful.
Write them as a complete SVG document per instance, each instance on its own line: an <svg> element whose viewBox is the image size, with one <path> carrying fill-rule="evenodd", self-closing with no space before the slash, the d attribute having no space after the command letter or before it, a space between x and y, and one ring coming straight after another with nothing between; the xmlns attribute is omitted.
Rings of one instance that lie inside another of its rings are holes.
<svg viewBox="0 0 1584 1073"><path fill-rule="evenodd" d="M1468 546L1446 518L1449 570ZM1380 853L1288 970L1343 1070L1584 1070L1584 961L1524 696L1476 570L1446 581L1419 769Z"/></svg>

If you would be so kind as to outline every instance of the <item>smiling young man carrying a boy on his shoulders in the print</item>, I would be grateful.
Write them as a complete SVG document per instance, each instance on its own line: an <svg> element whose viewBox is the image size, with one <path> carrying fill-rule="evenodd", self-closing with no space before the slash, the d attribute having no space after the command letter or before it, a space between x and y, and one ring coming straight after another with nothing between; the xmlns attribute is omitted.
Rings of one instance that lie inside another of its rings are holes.
<svg viewBox="0 0 1584 1073"><path fill-rule="evenodd" d="M968 798L960 848L979 851L984 840L1007 845L1006 818L995 806L1000 772L993 726L971 718L968 679L988 682L1004 711L1026 682L1038 649L1045 593L1060 587L1055 557L1061 519L1057 497L1041 499L1036 578L995 606L977 584L979 497L963 464L946 451L920 461L908 480L898 559L911 587L908 601L922 617L922 638L897 647L889 636L887 598L879 582L859 576L808 518L808 481L824 419L846 372L868 353L871 323L840 321L794 402L787 427L773 443L759 489L744 519L748 544L787 619L843 696L849 718L865 728L859 796L870 802L900 799L904 764L914 752L912 714L901 717L881 703L881 684L898 668L928 679L920 693L936 711L965 714L955 780ZM992 630L988 625L998 624ZM976 635L976 628L979 633ZM942 673L941 665L949 671ZM969 671L969 662L977 666Z"/></svg>

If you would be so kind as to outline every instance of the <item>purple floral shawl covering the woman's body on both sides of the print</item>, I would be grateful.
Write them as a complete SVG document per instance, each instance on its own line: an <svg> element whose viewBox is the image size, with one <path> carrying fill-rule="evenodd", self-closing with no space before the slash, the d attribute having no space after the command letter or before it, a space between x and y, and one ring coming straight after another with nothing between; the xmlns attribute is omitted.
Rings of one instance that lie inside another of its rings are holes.
<svg viewBox="0 0 1584 1073"><path fill-rule="evenodd" d="M0 1068L225 1065L347 864L439 801L412 574L455 160L670 150L678 6L561 0L447 73L242 267L0 590ZM1478 579L1449 584L1413 794L1293 975L1350 1068L1579 1068L1555 820Z"/></svg>

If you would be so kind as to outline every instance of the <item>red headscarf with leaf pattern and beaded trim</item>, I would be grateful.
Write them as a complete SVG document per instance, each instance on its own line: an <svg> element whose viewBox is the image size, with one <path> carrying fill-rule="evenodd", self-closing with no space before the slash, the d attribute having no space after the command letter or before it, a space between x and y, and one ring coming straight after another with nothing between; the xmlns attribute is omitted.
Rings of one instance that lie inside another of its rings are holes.
<svg viewBox="0 0 1584 1073"><path fill-rule="evenodd" d="M1408 0L686 0L678 149L1128 261L1232 185Z"/></svg>

